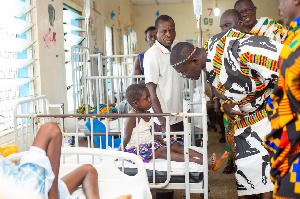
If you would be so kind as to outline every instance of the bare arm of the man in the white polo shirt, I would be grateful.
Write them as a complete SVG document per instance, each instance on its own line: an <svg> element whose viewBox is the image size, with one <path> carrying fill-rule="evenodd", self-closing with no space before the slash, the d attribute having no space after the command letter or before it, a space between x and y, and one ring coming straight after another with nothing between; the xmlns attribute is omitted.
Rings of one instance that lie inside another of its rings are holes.
<svg viewBox="0 0 300 199"><path fill-rule="evenodd" d="M160 105L159 99L156 95L157 84L150 82L150 83L147 83L146 86L150 92L150 98L152 101L152 109L153 109L154 113L162 113L161 105ZM165 132L166 131L166 119L164 117L158 117L158 120L160 122L162 132Z"/></svg>

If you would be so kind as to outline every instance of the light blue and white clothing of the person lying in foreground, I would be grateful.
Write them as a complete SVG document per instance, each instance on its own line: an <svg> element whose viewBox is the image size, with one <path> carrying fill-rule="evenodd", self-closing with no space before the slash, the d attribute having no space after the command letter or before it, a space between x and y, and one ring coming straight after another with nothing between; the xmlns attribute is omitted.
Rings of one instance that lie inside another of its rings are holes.
<svg viewBox="0 0 300 199"><path fill-rule="evenodd" d="M0 179L13 182L18 187L27 190L32 198L48 198L48 192L54 180L54 173L51 168L46 152L38 147L30 147L24 154L19 165L3 158L0 155ZM71 197L65 183L59 179L58 192L60 198Z"/></svg>

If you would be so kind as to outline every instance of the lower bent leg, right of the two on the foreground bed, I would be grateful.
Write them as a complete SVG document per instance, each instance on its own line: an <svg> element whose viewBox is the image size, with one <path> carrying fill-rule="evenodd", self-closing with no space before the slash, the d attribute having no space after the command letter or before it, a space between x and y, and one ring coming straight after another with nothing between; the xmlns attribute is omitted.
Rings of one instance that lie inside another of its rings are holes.
<svg viewBox="0 0 300 199"><path fill-rule="evenodd" d="M78 167L68 175L64 176L62 180L66 183L70 194L72 194L78 186L82 184L86 198L99 198L98 172L90 164Z"/></svg>

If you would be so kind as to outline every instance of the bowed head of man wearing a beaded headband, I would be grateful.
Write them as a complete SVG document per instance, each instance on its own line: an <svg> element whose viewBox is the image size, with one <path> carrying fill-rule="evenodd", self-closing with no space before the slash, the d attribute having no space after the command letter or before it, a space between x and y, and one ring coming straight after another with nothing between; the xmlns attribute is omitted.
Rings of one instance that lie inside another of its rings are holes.
<svg viewBox="0 0 300 199"><path fill-rule="evenodd" d="M199 79L201 69L205 69L206 53L188 42L179 42L172 48L170 63L183 78Z"/></svg>

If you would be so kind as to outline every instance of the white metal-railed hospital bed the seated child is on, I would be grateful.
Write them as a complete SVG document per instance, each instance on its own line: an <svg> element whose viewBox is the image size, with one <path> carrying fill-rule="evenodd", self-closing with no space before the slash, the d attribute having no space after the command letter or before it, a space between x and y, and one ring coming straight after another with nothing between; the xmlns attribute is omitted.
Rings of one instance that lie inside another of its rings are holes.
<svg viewBox="0 0 300 199"><path fill-rule="evenodd" d="M42 97L44 98L44 97ZM30 106L34 106L36 98L32 99L32 102L30 102ZM204 99L205 100L205 99ZM28 103L26 101L25 103ZM46 104L46 103L45 103ZM21 109L22 107L22 102L19 103L17 109ZM47 109L47 108L46 108ZM77 120L78 117L81 118L88 118L88 119L94 119L97 117L117 117L119 118L120 121L124 120L125 117L137 117L140 116L138 114L132 115L132 114L116 114L116 115L79 115L79 114L56 114L56 115L50 115L50 114L39 114L39 112L34 112L34 113L29 113L29 114L22 114L22 112L15 111L16 114L14 115L15 121L21 120L22 122L22 133L17 133L17 145L22 149L22 146L24 146L25 150L28 150L29 146L31 145L31 142L34 138L34 136L37 133L38 127L46 122L46 121L52 121L53 118L56 119L58 123L63 123L63 121L66 118ZM205 110L204 110L205 112ZM194 163L189 163L189 154L188 154L188 148L191 146L191 131L189 129L189 124L188 124L188 118L189 117L203 117L202 113L181 113L181 114L150 114L152 117L157 117L157 116L165 116L167 118L167 122L169 121L168 117L183 117L184 119L184 126L186 127L184 132L176 132L176 135L184 135L184 149L185 149L185 162L179 163L179 166L177 166L174 163L171 163L170 160L170 155L168 155L167 160L157 160L152 161L151 163L148 163L146 168L147 168L147 174L150 174L148 176L148 180L151 182L150 187L151 188L162 188L162 189L184 189L186 191L186 198L190 198L190 193L204 193L204 197L208 197L208 165L207 165L207 133L204 133L203 137L203 159L204 163L203 166L198 165L198 170L190 170L189 168L192 168L191 165ZM152 120L153 121L153 120ZM20 122L19 122L20 123ZM152 124L153 125L153 124ZM205 125L205 123L204 123ZM91 125L92 126L92 125ZM26 128L30 127L30 128ZM154 128L152 128L154 129ZM206 128L204 128L206 129ZM63 129L62 129L63 130ZM78 128L77 128L78 130ZM79 133L78 131L75 133ZM108 129L104 133L105 137L107 138L109 135ZM124 131L121 130L121 135L124 134ZM161 134L161 133L157 133ZM167 143L170 143L170 127L167 124L167 131L166 131L166 138L167 138ZM93 128L91 131L91 136L93 136ZM154 138L154 137L153 137ZM29 140L28 140L29 139ZM106 139L107 140L107 139ZM22 144L23 143L23 144ZM28 144L27 144L28 143ZM170 146L167 144L167 146ZM170 147L167 148L168 154L170 154ZM22 151L22 150L21 150ZM113 151L113 150L107 150L107 151ZM80 160L82 158L79 157L77 159L76 156L76 161L75 163L77 165L80 165ZM74 163L74 159L70 159L68 157L64 157L62 159L63 163L68 164L68 162ZM73 162L72 162L73 161ZM94 162L93 162L94 161ZM92 159L91 162L92 164L96 163L96 158ZM164 169L160 169L160 164L164 165ZM151 165L151 167L149 166ZM200 166L200 167L199 167ZM118 165L120 167L120 165ZM128 175L134 175L136 170L134 168L130 167L123 167L122 164L122 171L124 171ZM162 171L164 170L164 171ZM163 176L163 178L161 178Z"/></svg>

